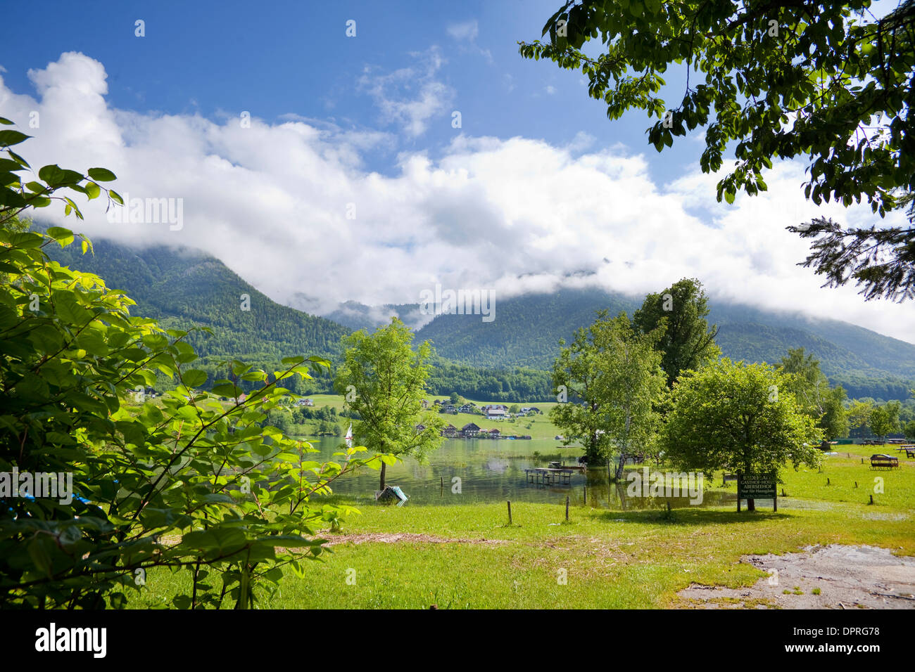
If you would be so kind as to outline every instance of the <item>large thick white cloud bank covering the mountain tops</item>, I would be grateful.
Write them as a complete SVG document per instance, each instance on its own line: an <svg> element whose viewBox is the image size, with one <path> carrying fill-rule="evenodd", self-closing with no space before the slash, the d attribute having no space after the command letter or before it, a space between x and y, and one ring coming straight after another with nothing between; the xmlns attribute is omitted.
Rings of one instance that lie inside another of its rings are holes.
<svg viewBox="0 0 915 672"><path fill-rule="evenodd" d="M348 299L415 303L436 283L490 289L498 301L587 283L645 293L689 276L713 298L915 340L909 304L821 289L821 278L796 265L807 245L789 224L813 214L869 218L867 207L806 202L800 165L777 164L769 192L732 206L716 203L716 176L658 186L642 155L595 149L585 134L566 146L458 135L440 157L407 152L383 176L361 156L391 142L384 133L295 116L242 128L229 114L217 123L116 110L104 99L102 65L82 54L31 77L38 99L0 79L0 116L21 126L40 112L40 127L27 131L36 137L21 145L32 165L102 165L132 197L184 198L181 230L110 224L99 201L84 208L84 222L57 208L42 215L94 237L200 248L275 300L313 312Z"/></svg>

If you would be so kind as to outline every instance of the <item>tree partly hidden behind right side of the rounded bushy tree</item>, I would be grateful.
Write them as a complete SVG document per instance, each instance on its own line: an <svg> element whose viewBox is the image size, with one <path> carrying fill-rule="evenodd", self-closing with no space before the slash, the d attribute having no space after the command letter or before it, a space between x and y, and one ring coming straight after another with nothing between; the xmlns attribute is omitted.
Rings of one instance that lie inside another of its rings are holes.
<svg viewBox="0 0 915 672"><path fill-rule="evenodd" d="M787 376L789 389L802 410L823 429L827 440L848 436L845 389L829 388L819 360L802 347L789 348L788 355L781 357L779 370Z"/></svg>

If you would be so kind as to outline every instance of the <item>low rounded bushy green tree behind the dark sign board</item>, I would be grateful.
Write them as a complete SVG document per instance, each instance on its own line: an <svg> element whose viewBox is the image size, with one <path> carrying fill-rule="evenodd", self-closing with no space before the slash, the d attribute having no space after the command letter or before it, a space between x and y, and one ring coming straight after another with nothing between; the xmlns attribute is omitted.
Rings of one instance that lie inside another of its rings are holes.
<svg viewBox="0 0 915 672"><path fill-rule="evenodd" d="M784 464L816 466L823 431L789 382L768 364L727 357L685 374L673 386L673 410L661 432L666 456L687 470L774 473L779 480ZM755 510L753 500L747 505Z"/></svg>

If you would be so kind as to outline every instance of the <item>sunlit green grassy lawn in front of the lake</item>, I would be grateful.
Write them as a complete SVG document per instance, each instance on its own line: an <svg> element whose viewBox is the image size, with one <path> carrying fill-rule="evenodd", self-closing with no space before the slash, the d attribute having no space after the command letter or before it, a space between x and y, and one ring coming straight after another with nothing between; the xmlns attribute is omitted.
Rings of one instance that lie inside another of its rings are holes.
<svg viewBox="0 0 915 672"><path fill-rule="evenodd" d="M674 607L688 605L676 592L693 582L738 588L766 576L739 562L745 554L841 543L915 555L915 461L877 472L861 457L891 448L842 448L826 458L822 474L786 470L788 496L778 513L762 503L755 513L685 507L669 516L578 506L566 523L560 505L514 503L510 526L504 502L363 507L342 533L324 535L333 546L304 578L287 573L261 606ZM874 494L875 478L883 479L883 493ZM720 483L716 475L712 485ZM391 533L414 536L393 543L370 537ZM150 572L132 604L166 605L184 581L185 573Z"/></svg>

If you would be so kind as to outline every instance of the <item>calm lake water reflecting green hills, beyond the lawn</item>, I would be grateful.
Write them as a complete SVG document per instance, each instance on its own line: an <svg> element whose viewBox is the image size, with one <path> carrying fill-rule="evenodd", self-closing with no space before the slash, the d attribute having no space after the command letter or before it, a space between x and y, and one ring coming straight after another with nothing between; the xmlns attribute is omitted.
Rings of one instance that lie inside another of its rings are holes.
<svg viewBox="0 0 915 672"><path fill-rule="evenodd" d="M321 458L339 460L332 454L340 450L339 438L310 440ZM541 453L540 459L533 453ZM472 504L475 502L548 502L573 505L587 504L620 510L636 508L689 507L689 497L628 497L626 485L609 484L606 469L576 472L568 485L528 483L524 470L547 466L556 455L565 464L576 464L580 449L560 448L551 440L463 440L451 439L432 453L425 464L407 457L387 468L387 485L400 485L414 504ZM314 459L318 459L316 455ZM361 471L339 478L334 492L359 503L373 502L379 485L377 471ZM736 503L736 493L705 492L699 506L722 506ZM407 503L409 506L409 502Z"/></svg>

